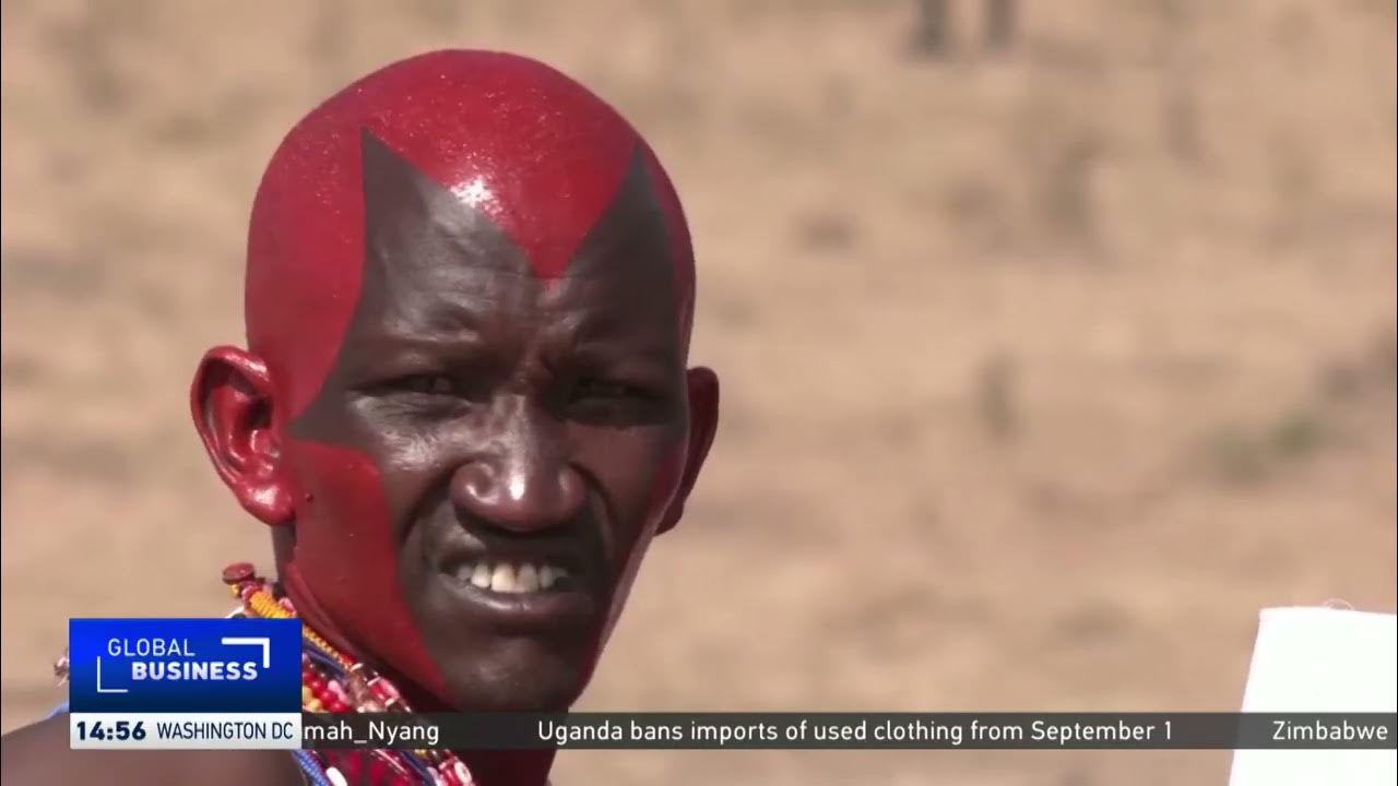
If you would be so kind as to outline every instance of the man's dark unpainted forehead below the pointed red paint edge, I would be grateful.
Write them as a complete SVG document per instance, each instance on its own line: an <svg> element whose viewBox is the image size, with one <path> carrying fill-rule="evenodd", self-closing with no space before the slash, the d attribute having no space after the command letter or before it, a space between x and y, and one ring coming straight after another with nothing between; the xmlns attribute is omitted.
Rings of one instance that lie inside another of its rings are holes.
<svg viewBox="0 0 1398 786"><path fill-rule="evenodd" d="M540 264L496 224L481 203L499 197L478 179L443 185L368 131L362 173L361 316L391 315L391 326L408 331L549 313L594 329L677 333L675 264L639 148L562 264ZM548 214L551 196L506 207Z"/></svg>

